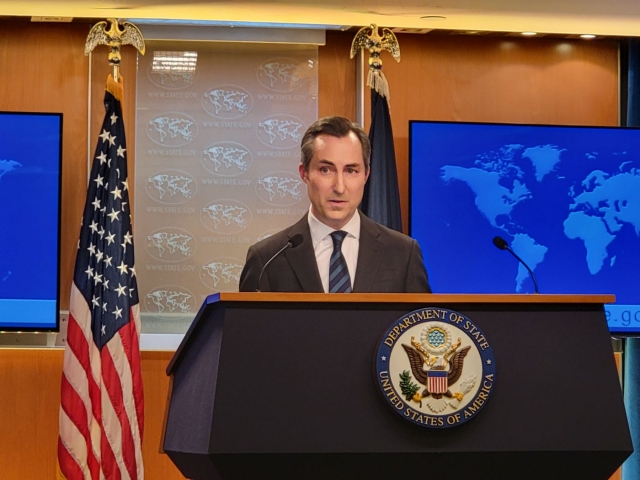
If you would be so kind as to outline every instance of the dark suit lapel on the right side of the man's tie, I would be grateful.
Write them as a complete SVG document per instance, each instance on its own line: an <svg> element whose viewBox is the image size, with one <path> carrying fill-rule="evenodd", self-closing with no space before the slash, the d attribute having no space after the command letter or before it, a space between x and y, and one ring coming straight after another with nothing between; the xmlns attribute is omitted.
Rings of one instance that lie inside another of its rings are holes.
<svg viewBox="0 0 640 480"><path fill-rule="evenodd" d="M376 223L360 214L360 245L358 247L358 263L356 281L353 291L370 292L373 281L378 275L384 257L386 245L379 240L380 229Z"/></svg>

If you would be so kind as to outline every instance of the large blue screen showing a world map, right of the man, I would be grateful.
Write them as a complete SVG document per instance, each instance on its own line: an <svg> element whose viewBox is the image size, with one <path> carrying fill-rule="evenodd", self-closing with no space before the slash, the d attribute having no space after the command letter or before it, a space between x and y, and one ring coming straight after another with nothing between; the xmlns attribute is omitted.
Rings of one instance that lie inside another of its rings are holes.
<svg viewBox="0 0 640 480"><path fill-rule="evenodd" d="M410 234L434 292L616 295L640 333L640 130L412 121Z"/></svg>

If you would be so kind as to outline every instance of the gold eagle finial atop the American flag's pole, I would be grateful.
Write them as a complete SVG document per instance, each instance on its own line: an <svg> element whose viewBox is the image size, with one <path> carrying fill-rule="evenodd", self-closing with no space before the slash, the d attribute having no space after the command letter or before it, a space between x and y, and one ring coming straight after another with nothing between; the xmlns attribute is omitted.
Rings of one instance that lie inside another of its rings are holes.
<svg viewBox="0 0 640 480"><path fill-rule="evenodd" d="M120 46L133 45L144 55L145 45L142 33L131 22L120 24L115 18L98 22L89 31L84 45L84 54L89 55L98 45L109 47L109 65L113 67L113 78L118 81L118 68L120 67Z"/></svg>

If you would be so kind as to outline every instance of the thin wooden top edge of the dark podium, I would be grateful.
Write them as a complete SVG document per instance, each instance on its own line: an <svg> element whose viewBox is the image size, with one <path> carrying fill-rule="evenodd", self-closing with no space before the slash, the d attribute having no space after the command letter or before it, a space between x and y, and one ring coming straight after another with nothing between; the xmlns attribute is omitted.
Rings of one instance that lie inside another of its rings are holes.
<svg viewBox="0 0 640 480"><path fill-rule="evenodd" d="M458 293L273 293L220 292L207 303L318 302L318 303L615 303L615 295L458 294Z"/></svg>

